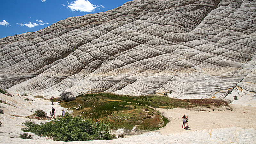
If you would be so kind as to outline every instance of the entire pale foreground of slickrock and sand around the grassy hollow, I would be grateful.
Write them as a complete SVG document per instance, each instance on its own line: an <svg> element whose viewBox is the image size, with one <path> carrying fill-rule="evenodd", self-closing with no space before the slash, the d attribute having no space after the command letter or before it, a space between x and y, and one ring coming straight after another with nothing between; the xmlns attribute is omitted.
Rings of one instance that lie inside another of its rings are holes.
<svg viewBox="0 0 256 144"><path fill-rule="evenodd" d="M2 144L229 144L243 143L252 144L256 141L256 117L255 107L231 105L231 110L209 110L192 111L181 108L175 109L157 109L164 116L170 119L164 128L159 131L148 132L141 135L129 136L128 138L118 138L115 140L97 140L97 141L79 141L79 142L61 142L47 140L29 132L22 132L25 127L22 122L29 120L27 115L31 115L35 110L42 109L50 111L52 106L56 109L56 114L61 114L61 108L58 103L51 105L51 101L35 98L32 96L13 95L6 96L0 93L0 98L5 103L0 103L4 114L0 114L2 126L0 127L0 141ZM29 98L35 101L26 101ZM6 104L7 103L7 104ZM65 110L67 111L67 110ZM188 116L189 128L182 128L181 117ZM15 115L15 116L13 116ZM19 115L19 117L18 117ZM48 113L49 116L49 113ZM37 124L46 122L45 120L34 120ZM34 140L20 139L20 133L32 135Z"/></svg>

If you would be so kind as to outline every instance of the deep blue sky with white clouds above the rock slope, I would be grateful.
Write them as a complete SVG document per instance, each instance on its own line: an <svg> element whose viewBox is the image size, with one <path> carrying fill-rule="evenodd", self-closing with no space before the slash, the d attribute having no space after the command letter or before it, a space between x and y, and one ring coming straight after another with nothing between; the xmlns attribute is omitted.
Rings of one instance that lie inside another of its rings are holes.
<svg viewBox="0 0 256 144"><path fill-rule="evenodd" d="M0 0L0 38L34 32L68 17L104 12L131 0Z"/></svg>

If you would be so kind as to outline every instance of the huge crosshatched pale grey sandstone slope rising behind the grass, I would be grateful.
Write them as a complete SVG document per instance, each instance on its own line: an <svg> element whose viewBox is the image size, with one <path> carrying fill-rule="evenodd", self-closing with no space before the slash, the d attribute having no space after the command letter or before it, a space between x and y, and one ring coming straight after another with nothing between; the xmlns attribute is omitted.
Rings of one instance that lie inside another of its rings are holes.
<svg viewBox="0 0 256 144"><path fill-rule="evenodd" d="M183 99L233 99L234 91L254 105L255 23L252 0L130 1L0 39L0 87Z"/></svg>

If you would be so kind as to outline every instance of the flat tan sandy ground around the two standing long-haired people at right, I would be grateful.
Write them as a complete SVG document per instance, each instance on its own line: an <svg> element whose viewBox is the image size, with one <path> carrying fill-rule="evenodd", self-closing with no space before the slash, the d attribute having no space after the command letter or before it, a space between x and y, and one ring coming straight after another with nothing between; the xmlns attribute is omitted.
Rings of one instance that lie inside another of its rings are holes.
<svg viewBox="0 0 256 144"><path fill-rule="evenodd" d="M256 129L256 107L230 105L233 109L222 111L194 111L181 108L159 109L165 117L170 120L165 127L160 128L162 135L181 132L192 132L196 130L212 130L219 128L241 127ZM182 116L188 116L189 128L182 128Z"/></svg>

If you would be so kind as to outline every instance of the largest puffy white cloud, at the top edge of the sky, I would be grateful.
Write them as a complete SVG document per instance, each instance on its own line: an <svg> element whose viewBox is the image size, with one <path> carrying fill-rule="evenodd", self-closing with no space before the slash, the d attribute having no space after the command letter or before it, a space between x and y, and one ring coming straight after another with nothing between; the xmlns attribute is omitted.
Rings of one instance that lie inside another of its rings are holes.
<svg viewBox="0 0 256 144"><path fill-rule="evenodd" d="M75 12L92 12L97 7L99 6L91 4L88 0L75 0L72 3L68 3L68 8L70 8L71 11Z"/></svg>

